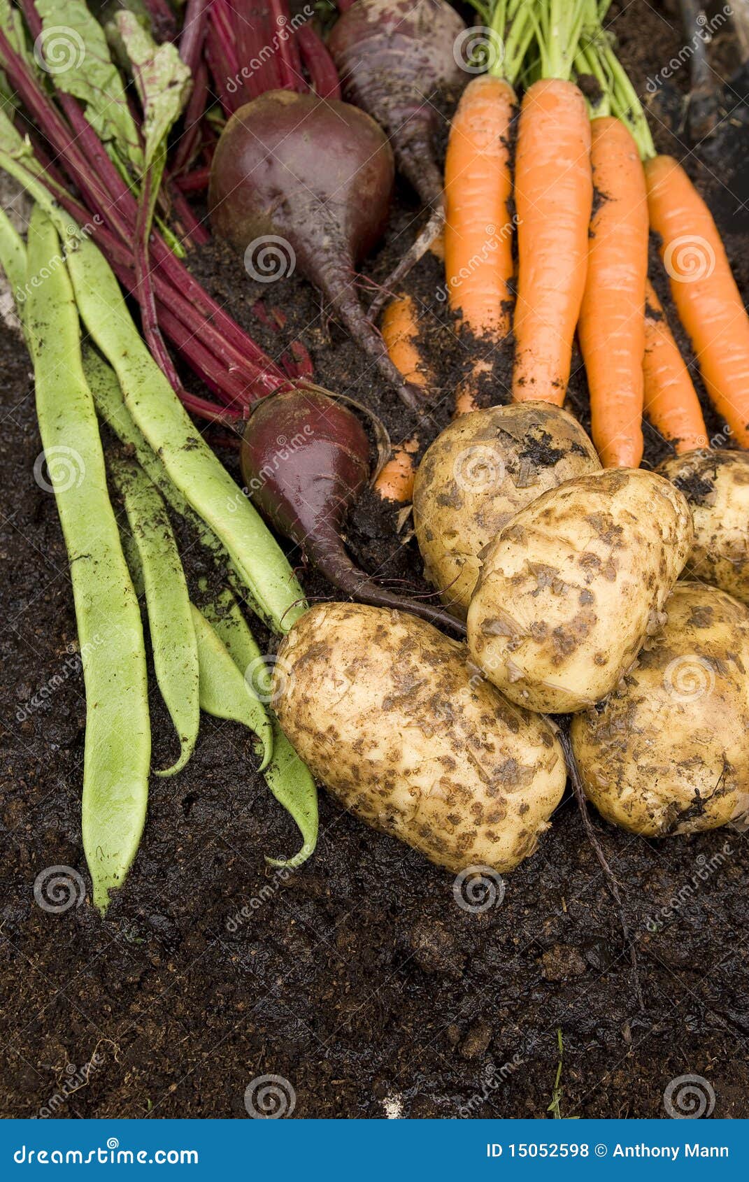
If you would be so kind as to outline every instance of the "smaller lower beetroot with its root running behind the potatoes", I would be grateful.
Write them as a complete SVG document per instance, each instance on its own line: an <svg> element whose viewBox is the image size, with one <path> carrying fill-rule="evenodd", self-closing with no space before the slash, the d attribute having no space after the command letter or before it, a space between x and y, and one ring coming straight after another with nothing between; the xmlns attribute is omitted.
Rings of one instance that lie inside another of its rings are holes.
<svg viewBox="0 0 749 1182"><path fill-rule="evenodd" d="M289 390L258 404L245 429L241 462L247 492L271 524L345 595L397 608L464 632L439 608L386 591L345 551L346 513L366 485L370 444L346 407L319 390Z"/></svg>

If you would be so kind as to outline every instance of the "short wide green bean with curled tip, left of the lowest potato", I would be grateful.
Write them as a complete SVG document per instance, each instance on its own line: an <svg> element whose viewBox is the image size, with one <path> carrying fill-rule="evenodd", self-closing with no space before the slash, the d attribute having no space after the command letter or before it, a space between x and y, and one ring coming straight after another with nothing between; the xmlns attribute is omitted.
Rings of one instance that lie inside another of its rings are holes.
<svg viewBox="0 0 749 1182"><path fill-rule="evenodd" d="M268 713L234 664L223 641L195 604L190 606L200 658L201 709L215 719L242 722L258 735L262 747L260 771L265 772L273 755L273 728Z"/></svg>

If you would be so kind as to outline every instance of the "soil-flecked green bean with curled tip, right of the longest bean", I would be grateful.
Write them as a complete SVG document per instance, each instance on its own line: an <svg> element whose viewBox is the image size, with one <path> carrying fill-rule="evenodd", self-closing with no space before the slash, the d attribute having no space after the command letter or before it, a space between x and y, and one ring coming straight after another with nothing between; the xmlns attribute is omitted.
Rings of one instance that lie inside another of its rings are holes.
<svg viewBox="0 0 749 1182"><path fill-rule="evenodd" d="M122 494L141 560L156 681L180 739L178 760L156 775L175 775L193 754L200 728L197 641L190 596L158 489L132 461L115 460L110 472Z"/></svg>

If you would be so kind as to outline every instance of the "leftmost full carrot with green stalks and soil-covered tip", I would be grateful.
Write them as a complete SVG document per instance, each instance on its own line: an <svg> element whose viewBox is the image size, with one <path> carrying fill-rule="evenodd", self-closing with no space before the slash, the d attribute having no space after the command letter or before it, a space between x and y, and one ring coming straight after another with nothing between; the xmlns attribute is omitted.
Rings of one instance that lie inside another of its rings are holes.
<svg viewBox="0 0 749 1182"><path fill-rule="evenodd" d="M450 307L489 346L510 330L513 262L512 123L517 110L513 82L533 37L529 5L497 2L488 48L489 70L473 78L450 125L444 164L444 261ZM490 370L486 357L461 384L456 414L476 408L475 388Z"/></svg>

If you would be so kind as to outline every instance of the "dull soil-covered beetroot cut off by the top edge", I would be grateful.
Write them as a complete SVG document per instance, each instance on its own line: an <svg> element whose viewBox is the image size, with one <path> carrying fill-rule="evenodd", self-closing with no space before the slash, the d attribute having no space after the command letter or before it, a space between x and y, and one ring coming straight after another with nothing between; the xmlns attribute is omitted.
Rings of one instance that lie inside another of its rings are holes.
<svg viewBox="0 0 749 1182"><path fill-rule="evenodd" d="M445 0L356 0L327 43L344 95L385 129L399 170L432 209L442 208L434 102L467 80L456 48L464 30Z"/></svg>

